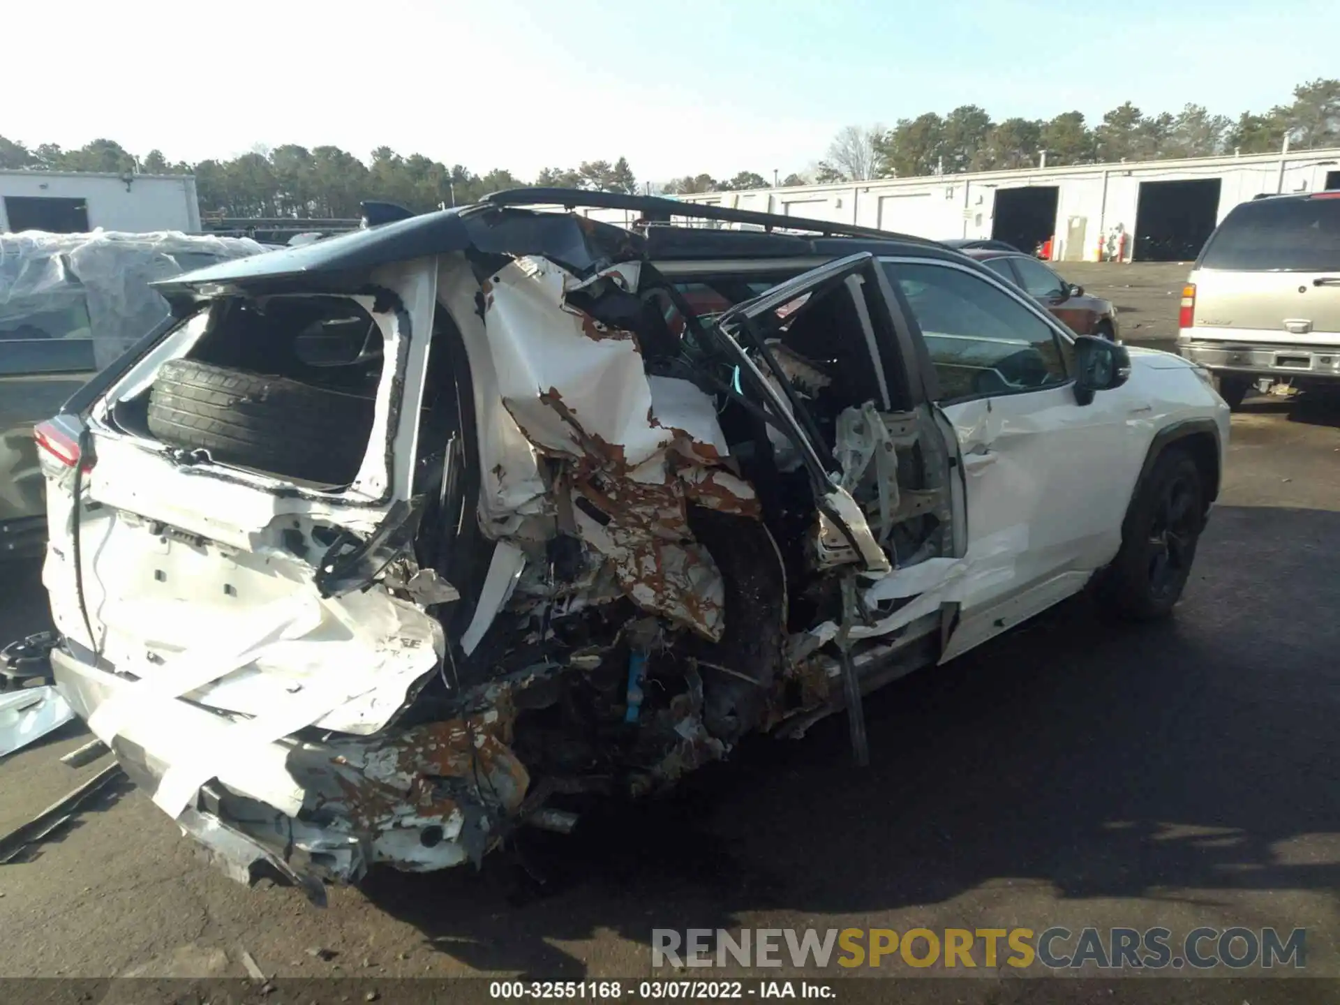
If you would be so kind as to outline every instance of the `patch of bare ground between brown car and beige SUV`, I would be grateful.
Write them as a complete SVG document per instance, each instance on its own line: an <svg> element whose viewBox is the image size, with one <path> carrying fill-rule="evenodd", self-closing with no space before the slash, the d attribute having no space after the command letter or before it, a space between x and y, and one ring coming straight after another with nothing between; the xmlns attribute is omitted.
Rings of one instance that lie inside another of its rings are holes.
<svg viewBox="0 0 1340 1005"><path fill-rule="evenodd" d="M1056 263L1056 271L1084 287L1084 292L1116 304L1123 342L1172 351L1190 261L1061 261Z"/></svg>

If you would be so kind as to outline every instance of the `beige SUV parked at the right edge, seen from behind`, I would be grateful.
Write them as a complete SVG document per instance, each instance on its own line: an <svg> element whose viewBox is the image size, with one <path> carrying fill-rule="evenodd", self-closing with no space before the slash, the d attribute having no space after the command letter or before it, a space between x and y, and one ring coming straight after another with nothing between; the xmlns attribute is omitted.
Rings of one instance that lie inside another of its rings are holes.
<svg viewBox="0 0 1340 1005"><path fill-rule="evenodd" d="M1257 382L1340 387L1340 192L1235 206L1182 291L1178 351L1237 409Z"/></svg>

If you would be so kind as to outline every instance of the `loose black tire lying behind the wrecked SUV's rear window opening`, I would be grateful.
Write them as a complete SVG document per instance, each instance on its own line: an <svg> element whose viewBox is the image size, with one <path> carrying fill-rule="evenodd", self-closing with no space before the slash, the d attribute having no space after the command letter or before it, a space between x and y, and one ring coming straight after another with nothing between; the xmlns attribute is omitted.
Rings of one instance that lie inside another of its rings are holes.
<svg viewBox="0 0 1340 1005"><path fill-rule="evenodd" d="M283 377L170 359L149 393L149 431L224 464L347 484L373 431L371 398Z"/></svg>

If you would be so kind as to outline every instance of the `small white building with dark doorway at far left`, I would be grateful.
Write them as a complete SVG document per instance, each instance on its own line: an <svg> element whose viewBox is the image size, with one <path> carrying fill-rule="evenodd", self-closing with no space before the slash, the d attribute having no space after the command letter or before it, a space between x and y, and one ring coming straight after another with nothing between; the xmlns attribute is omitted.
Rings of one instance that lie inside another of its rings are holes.
<svg viewBox="0 0 1340 1005"><path fill-rule="evenodd" d="M189 174L0 172L0 233L84 233L102 228L200 233Z"/></svg>

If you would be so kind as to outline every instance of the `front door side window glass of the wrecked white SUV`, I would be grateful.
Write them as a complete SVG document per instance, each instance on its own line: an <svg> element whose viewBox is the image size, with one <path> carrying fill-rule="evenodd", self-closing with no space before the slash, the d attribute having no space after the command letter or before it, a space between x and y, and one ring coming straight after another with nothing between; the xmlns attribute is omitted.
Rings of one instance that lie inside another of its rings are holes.
<svg viewBox="0 0 1340 1005"><path fill-rule="evenodd" d="M942 401L1034 391L1068 379L1052 327L1000 288L950 265L886 268L922 330Z"/></svg>

